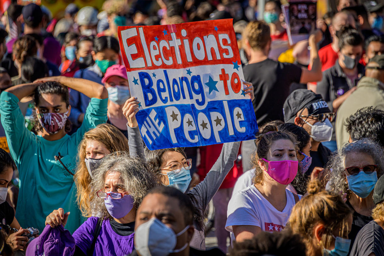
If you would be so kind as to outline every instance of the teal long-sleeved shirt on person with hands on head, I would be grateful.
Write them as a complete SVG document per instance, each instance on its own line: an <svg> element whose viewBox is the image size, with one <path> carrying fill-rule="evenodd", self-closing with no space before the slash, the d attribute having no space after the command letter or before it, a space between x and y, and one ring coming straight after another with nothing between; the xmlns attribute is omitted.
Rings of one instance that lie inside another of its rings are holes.
<svg viewBox="0 0 384 256"><path fill-rule="evenodd" d="M106 122L108 99L92 98L77 132L55 141L43 139L26 129L18 101L12 93L0 95L1 123L21 183L15 216L23 228L32 226L42 231L46 216L63 208L71 212L65 228L73 233L85 218L76 203L73 176L55 156L60 153L61 162L68 170L76 171L78 145L85 132Z"/></svg>

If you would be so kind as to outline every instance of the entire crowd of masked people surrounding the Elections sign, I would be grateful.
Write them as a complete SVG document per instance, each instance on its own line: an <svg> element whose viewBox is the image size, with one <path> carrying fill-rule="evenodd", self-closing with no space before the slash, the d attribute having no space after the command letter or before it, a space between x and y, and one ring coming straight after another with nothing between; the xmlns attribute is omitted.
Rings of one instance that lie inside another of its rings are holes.
<svg viewBox="0 0 384 256"><path fill-rule="evenodd" d="M374 3L336 0L290 45L278 0L263 13L255 0L71 3L60 19L12 1L0 19L0 255L384 256ZM147 149L118 26L222 18L255 139Z"/></svg>

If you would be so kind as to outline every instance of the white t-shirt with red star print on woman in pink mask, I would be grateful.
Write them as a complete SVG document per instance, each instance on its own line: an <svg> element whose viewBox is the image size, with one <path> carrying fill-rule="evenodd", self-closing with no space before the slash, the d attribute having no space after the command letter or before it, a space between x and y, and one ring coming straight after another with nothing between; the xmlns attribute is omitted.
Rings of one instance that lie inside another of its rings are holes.
<svg viewBox="0 0 384 256"><path fill-rule="evenodd" d="M283 211L276 210L254 185L235 193L228 203L228 217L225 224L225 229L231 232L232 241L234 241L232 226L251 225L260 227L262 231L281 231L295 206L293 193L289 190L285 190L285 193L287 203Z"/></svg>

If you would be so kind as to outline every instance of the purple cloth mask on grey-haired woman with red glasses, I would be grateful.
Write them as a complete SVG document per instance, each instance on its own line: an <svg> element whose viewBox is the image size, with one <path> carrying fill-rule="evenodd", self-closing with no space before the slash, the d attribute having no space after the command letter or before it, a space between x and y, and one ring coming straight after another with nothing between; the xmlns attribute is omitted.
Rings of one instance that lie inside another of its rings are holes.
<svg viewBox="0 0 384 256"><path fill-rule="evenodd" d="M131 195L124 195L120 199L113 199L111 196L104 199L105 208L115 219L126 216L132 210L133 202L134 199Z"/></svg>

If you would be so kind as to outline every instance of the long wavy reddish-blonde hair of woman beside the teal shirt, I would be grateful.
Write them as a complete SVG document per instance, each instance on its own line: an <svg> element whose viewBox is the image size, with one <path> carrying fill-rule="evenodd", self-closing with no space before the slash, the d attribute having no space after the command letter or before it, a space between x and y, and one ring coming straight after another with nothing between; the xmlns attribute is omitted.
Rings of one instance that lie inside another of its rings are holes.
<svg viewBox="0 0 384 256"><path fill-rule="evenodd" d="M74 180L77 188L77 203L81 213L86 216L92 216L89 201L96 195L91 193L89 183L91 183L91 176L85 165L86 152L85 148L87 142L96 140L105 145L109 152L126 151L128 152L128 139L121 133L119 129L110 124L99 124L96 128L89 130L83 136L78 149L78 163ZM128 153L127 153L128 154Z"/></svg>

